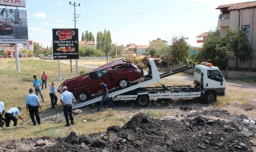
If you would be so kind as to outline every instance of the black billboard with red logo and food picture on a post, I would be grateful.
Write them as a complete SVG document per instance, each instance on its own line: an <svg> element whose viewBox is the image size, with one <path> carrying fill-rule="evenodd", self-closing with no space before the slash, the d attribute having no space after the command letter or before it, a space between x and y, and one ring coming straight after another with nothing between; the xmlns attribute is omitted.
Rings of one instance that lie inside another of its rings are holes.
<svg viewBox="0 0 256 152"><path fill-rule="evenodd" d="M79 59L78 29L52 29L54 59Z"/></svg>

